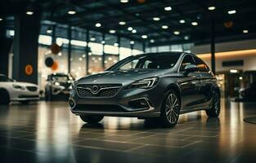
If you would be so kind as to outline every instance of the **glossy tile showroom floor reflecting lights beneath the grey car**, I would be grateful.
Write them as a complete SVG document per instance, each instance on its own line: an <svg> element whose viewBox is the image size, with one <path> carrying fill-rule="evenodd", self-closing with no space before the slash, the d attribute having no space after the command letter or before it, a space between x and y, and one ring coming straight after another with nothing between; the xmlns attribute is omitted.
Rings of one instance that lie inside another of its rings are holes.
<svg viewBox="0 0 256 163"><path fill-rule="evenodd" d="M0 162L256 162L256 104L222 100L219 118L182 115L173 129L137 118L83 123L65 102L0 106Z"/></svg>

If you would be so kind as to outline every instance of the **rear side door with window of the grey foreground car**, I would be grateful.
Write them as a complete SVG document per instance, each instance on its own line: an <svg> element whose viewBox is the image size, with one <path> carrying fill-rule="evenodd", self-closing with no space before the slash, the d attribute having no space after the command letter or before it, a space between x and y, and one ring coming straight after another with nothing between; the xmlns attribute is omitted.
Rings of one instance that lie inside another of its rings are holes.
<svg viewBox="0 0 256 163"><path fill-rule="evenodd" d="M213 97L213 74L202 59L198 58L197 56L193 56L193 58L195 59L195 65L200 72L199 101L202 106L208 106Z"/></svg>

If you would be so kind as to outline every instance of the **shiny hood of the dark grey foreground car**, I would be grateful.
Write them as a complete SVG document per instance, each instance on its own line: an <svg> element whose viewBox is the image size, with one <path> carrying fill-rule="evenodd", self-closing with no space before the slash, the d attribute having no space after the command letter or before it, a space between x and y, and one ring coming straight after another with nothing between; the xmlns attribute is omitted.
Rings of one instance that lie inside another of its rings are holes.
<svg viewBox="0 0 256 163"><path fill-rule="evenodd" d="M126 83L137 81L146 77L164 75L164 70L159 69L128 69L106 71L79 79L78 83Z"/></svg>

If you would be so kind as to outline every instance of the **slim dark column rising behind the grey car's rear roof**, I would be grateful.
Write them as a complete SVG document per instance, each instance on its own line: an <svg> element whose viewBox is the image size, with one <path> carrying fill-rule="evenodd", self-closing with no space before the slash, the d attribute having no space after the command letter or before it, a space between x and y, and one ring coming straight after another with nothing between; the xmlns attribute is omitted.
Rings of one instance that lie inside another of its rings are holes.
<svg viewBox="0 0 256 163"><path fill-rule="evenodd" d="M215 74L215 28L214 20L211 18L211 64L212 72Z"/></svg>

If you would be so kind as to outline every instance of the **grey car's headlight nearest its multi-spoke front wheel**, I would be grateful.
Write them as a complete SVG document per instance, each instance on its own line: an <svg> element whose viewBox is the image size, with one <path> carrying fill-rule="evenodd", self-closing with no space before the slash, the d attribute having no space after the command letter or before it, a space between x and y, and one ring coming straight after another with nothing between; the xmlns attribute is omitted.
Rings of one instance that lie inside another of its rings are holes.
<svg viewBox="0 0 256 163"><path fill-rule="evenodd" d="M150 77L146 79L142 79L140 81L133 82L128 89L130 88L142 88L142 89L150 89L154 87L159 81L159 77Z"/></svg>

